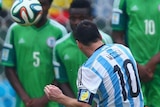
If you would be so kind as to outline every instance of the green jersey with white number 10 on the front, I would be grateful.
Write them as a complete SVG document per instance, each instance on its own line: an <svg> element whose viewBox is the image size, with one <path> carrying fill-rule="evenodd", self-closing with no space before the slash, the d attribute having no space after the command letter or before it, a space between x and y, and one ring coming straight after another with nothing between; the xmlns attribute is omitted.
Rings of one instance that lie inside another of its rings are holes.
<svg viewBox="0 0 160 107"><path fill-rule="evenodd" d="M160 1L116 0L113 11L113 30L126 31L136 61L145 64L160 51Z"/></svg>

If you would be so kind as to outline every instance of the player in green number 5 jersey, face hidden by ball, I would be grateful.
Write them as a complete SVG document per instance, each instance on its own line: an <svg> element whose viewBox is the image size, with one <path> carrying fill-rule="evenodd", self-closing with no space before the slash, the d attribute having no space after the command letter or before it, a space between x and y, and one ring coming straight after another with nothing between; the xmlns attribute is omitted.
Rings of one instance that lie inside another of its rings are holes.
<svg viewBox="0 0 160 107"><path fill-rule="evenodd" d="M3 47L2 64L18 94L16 107L59 107L49 102L43 89L54 82L52 50L67 30L47 17L52 0L39 1L43 8L40 21L32 26L13 23Z"/></svg>

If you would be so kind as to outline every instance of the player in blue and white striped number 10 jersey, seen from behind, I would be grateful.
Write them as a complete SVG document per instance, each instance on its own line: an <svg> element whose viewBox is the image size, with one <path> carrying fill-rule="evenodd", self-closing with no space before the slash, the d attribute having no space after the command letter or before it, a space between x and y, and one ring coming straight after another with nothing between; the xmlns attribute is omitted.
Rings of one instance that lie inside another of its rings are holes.
<svg viewBox="0 0 160 107"><path fill-rule="evenodd" d="M44 91L50 100L68 107L90 107L96 95L99 107L144 107L137 64L127 47L105 45L96 25L88 20L77 26L75 39L88 57L78 71L78 98L47 85Z"/></svg>

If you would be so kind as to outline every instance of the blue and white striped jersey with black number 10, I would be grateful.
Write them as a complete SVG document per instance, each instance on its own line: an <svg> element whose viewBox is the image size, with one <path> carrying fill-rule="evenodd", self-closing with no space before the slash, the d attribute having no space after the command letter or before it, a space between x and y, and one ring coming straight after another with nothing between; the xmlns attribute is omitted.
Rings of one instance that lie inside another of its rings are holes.
<svg viewBox="0 0 160 107"><path fill-rule="evenodd" d="M97 49L78 71L78 100L99 107L144 107L136 62L120 44Z"/></svg>

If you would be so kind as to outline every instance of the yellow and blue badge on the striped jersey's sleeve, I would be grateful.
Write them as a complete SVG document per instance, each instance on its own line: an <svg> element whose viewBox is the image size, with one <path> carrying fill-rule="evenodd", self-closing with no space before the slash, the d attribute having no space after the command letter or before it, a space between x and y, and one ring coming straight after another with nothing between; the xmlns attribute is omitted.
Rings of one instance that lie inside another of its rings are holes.
<svg viewBox="0 0 160 107"><path fill-rule="evenodd" d="M91 93L86 90L86 89L81 89L80 90L80 95L79 95L79 101L83 101L83 102L89 102L89 98L90 98Z"/></svg>

